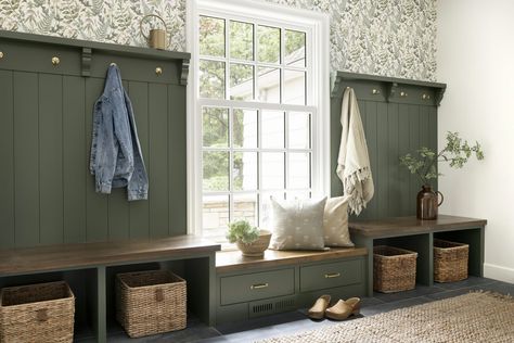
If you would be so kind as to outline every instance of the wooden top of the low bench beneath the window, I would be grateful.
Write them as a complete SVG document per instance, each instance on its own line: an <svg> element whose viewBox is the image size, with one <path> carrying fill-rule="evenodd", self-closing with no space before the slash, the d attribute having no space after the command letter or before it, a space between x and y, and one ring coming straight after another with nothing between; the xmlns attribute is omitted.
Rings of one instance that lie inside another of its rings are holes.
<svg viewBox="0 0 514 343"><path fill-rule="evenodd" d="M277 267L331 258L367 256L365 247L331 247L330 251L274 251L267 250L264 257L245 257L239 250L216 253L216 272L230 272L247 268Z"/></svg>

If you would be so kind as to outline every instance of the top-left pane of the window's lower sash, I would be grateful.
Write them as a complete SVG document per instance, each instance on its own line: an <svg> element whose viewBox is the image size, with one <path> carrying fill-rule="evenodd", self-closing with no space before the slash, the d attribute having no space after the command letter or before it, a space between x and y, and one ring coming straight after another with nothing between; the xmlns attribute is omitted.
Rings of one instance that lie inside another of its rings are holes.
<svg viewBox="0 0 514 343"><path fill-rule="evenodd" d="M229 109L203 107L204 147L229 147Z"/></svg>

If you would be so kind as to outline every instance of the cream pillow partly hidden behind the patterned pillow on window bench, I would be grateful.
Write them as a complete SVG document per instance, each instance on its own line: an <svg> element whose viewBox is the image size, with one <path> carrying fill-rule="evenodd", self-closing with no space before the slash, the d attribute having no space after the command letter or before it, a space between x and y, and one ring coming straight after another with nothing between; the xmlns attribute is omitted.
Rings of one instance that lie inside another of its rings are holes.
<svg viewBox="0 0 514 343"><path fill-rule="evenodd" d="M355 246L348 232L348 199L337 196L326 200L323 232L326 246Z"/></svg>

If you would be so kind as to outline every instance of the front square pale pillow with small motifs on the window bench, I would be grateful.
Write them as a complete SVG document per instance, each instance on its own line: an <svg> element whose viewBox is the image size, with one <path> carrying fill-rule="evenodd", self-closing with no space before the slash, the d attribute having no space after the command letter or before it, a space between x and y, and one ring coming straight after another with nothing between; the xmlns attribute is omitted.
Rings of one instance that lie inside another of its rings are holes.
<svg viewBox="0 0 514 343"><path fill-rule="evenodd" d="M270 249L324 250L322 200L288 200L278 202L271 198Z"/></svg>

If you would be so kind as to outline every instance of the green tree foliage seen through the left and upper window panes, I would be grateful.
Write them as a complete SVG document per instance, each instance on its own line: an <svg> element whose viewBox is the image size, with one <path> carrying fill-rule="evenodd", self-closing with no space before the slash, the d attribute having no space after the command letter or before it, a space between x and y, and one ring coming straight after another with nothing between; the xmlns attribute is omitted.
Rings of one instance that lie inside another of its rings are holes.
<svg viewBox="0 0 514 343"><path fill-rule="evenodd" d="M253 61L254 26L252 24L229 21L229 25L220 18L202 16L200 20L200 53L214 58L226 55L226 29L229 27L231 58ZM290 55L305 47L304 33L285 30L285 54ZM280 59L280 29L268 26L257 26L259 42L258 61L279 63ZM226 98L226 63L218 61L201 60L200 93L203 98ZM252 66L242 63L232 63L230 66L230 86L241 85L252 80L254 71ZM267 69L267 68L264 68ZM232 100L245 100L231 97ZM203 110L204 147L228 148L229 112L227 109L208 107ZM234 110L233 115L233 142L243 147L243 111ZM229 153L224 151L204 152L204 185L206 191L227 191L229 189ZM234 189L243 186L243 154L234 154Z"/></svg>

